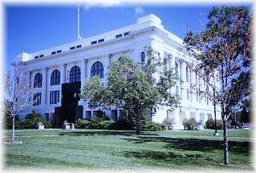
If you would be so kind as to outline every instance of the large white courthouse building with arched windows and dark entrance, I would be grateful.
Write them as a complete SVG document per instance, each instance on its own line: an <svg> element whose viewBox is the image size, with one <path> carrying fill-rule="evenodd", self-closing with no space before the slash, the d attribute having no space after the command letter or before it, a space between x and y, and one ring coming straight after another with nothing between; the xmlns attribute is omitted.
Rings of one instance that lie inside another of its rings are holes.
<svg viewBox="0 0 256 173"><path fill-rule="evenodd" d="M59 122L56 123L57 126L64 119L74 122L78 118L93 118L98 109L90 109L87 102L79 98L85 82L95 75L106 82L108 65L120 55L128 55L133 61L144 63L147 61L145 46L152 47L160 58L166 57L168 68L174 69L183 81L178 82L171 91L172 95L181 98L178 107L160 107L154 114L147 113L147 118L158 123L162 123L165 118L172 118L175 129L183 129L184 118L195 118L202 123L214 118L213 104L208 95L190 92L194 84L201 90L207 87L204 80L187 66L191 58L179 49L183 47L183 40L168 32L162 26L160 18L154 14L138 18L137 23L131 26L18 55L20 66L23 66L22 72L26 72L29 79L29 88L33 89L33 94L27 98L31 104L20 112L20 118L30 114L32 110L50 121ZM16 78L17 82L22 83L19 80L20 73L16 74ZM218 77L216 81L218 84ZM116 107L105 113L112 119L122 116L122 111ZM220 118L219 107L217 118Z"/></svg>

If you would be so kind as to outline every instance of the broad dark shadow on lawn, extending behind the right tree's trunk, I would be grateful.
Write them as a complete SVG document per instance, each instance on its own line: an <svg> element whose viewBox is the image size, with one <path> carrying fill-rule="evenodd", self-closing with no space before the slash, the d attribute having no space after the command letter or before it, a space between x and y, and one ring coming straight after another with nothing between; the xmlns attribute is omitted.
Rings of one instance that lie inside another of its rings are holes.
<svg viewBox="0 0 256 173"><path fill-rule="evenodd" d="M125 139L133 143L144 143L148 141L165 142L167 148L176 148L189 151L213 152L213 150L223 150L223 141L211 141L203 139L177 139L172 137L159 136L137 136L137 138ZM230 153L249 154L251 143L249 141L229 141Z"/></svg>

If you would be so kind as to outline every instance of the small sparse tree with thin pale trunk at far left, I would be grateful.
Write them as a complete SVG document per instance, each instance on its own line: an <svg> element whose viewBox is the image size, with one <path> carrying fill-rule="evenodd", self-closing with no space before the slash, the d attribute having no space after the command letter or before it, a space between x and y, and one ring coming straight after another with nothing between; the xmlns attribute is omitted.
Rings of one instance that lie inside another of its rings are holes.
<svg viewBox="0 0 256 173"><path fill-rule="evenodd" d="M7 118L12 118L11 144L15 144L15 118L24 107L32 104L32 102L28 101L28 98L32 95L29 80L24 71L24 66L18 61L14 64L14 75L8 72L4 78L5 107L3 107L3 112Z"/></svg>

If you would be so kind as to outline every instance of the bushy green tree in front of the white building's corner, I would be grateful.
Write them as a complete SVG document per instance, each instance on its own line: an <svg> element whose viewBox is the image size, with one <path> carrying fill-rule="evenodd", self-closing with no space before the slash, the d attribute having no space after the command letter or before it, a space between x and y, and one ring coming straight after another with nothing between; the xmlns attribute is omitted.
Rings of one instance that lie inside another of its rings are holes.
<svg viewBox="0 0 256 173"><path fill-rule="evenodd" d="M170 94L177 78L167 69L166 60L157 58L153 49L147 48L146 52L144 64L135 63L126 55L120 56L108 66L107 84L102 84L97 76L91 78L81 95L89 107L124 109L135 122L137 134L140 134L146 109L154 112L160 106L177 104L177 99Z"/></svg>

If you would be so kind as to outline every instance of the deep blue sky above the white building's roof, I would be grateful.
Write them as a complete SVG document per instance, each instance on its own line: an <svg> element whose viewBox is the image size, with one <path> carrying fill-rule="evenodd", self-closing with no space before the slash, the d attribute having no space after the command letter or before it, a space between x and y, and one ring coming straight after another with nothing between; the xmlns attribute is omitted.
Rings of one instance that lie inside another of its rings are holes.
<svg viewBox="0 0 256 173"><path fill-rule="evenodd" d="M121 6L80 8L80 33L90 37L137 22L155 14L165 28L183 38L189 29L198 32L212 5ZM6 6L5 66L21 52L32 53L77 39L77 6Z"/></svg>

